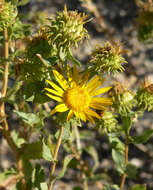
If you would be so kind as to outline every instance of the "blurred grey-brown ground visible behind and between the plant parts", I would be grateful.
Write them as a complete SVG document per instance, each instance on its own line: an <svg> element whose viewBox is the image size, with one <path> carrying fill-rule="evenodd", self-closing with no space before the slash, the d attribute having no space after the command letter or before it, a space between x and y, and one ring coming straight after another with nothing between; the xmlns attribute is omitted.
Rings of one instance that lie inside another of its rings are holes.
<svg viewBox="0 0 153 190"><path fill-rule="evenodd" d="M26 2L26 1L25 1ZM95 47L103 45L106 41L123 42L124 49L127 49L125 58L127 64L124 64L125 72L120 73L116 78L110 77L108 83L113 84L114 80L123 82L128 88L135 90L140 82L148 77L153 82L153 45L143 43L138 40L137 18L139 12L138 2L135 0L30 0L25 6L19 7L20 18L25 23L32 24L33 34L40 25L46 24L46 18L56 15L57 11L63 11L64 5L68 10L78 10L88 15L89 22L85 28L88 30L90 38L74 49L74 54L83 65L89 62L90 54ZM22 46L22 44L19 44ZM107 83L106 83L107 85ZM12 114L13 121L11 127L18 124L17 116L12 113L12 108L7 105L7 113ZM144 129L153 129L153 114L145 112L143 118L133 126L133 132L142 134ZM50 120L46 120L46 126L49 128ZM82 129L81 129L82 130ZM114 169L111 158L111 152L107 139L94 131L93 137L87 139L86 143L94 143L99 155L98 170L105 170L113 179L114 183L119 183L119 176ZM60 150L59 158L62 159L64 151ZM84 160L92 166L94 160L88 154L83 155ZM126 186L132 186L135 183L147 184L147 190L153 189L153 138L144 145L130 145L130 161L138 167L138 174L135 180L127 179ZM0 171L10 167L14 163L12 154L4 139L0 138ZM48 173L48 163L42 163ZM57 169L60 170L59 168ZM65 177L55 185L56 189L71 190L77 186L77 170L69 169ZM96 187L90 187L96 190ZM79 189L78 189L79 190Z"/></svg>

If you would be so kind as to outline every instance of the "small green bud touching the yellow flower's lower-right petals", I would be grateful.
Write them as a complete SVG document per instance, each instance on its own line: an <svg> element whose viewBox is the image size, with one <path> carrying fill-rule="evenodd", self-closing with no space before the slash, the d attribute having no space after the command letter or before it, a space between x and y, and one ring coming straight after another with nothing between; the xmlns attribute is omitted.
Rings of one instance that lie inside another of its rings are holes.
<svg viewBox="0 0 153 190"><path fill-rule="evenodd" d="M118 130L116 116L111 112L105 111L101 119L98 120L96 128L99 132L104 132L106 134L116 132Z"/></svg>

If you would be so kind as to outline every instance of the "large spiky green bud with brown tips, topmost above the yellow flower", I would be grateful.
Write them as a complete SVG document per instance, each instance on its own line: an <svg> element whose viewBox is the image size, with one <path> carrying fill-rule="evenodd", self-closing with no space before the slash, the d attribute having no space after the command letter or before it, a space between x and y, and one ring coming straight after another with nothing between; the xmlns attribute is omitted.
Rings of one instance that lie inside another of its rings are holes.
<svg viewBox="0 0 153 190"><path fill-rule="evenodd" d="M88 37L88 32L83 26L86 18L84 13L67 11L65 6L63 12L58 12L57 16L50 20L48 36L51 43L58 49L77 47L78 42Z"/></svg>

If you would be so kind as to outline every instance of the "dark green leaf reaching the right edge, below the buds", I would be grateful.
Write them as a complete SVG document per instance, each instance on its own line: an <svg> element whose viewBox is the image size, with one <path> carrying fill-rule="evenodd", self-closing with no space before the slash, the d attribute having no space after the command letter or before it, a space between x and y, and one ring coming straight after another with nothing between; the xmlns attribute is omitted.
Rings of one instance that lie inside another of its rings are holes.
<svg viewBox="0 0 153 190"><path fill-rule="evenodd" d="M153 134L153 129L148 129L143 132L143 135L130 137L130 142L133 144L146 143Z"/></svg>

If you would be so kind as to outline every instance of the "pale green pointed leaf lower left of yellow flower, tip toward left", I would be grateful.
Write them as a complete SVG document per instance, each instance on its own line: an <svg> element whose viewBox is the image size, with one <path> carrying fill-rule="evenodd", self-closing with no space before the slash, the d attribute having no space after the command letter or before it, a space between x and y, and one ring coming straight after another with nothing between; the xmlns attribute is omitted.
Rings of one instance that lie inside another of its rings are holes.
<svg viewBox="0 0 153 190"><path fill-rule="evenodd" d="M14 113L16 113L23 122L29 124L30 126L33 126L34 124L40 122L39 117L34 113L25 113L14 110Z"/></svg>

